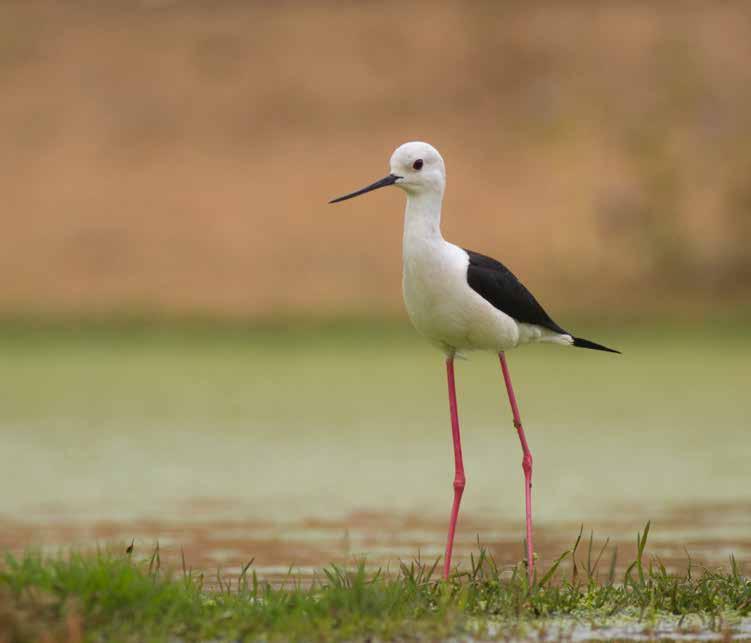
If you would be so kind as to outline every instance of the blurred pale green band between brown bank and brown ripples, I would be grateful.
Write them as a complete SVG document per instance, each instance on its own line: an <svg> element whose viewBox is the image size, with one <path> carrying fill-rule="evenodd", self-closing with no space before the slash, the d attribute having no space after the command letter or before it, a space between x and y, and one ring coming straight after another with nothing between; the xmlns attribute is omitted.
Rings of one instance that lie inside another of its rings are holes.
<svg viewBox="0 0 751 643"><path fill-rule="evenodd" d="M623 355L509 353L541 520L747 501L744 319L564 321ZM290 519L381 510L384 498L443 514L443 359L406 322L6 322L0 354L0 484L37 466L0 510L109 515L198 496ZM457 365L467 511L514 520L518 443L497 359L468 357Z"/></svg>

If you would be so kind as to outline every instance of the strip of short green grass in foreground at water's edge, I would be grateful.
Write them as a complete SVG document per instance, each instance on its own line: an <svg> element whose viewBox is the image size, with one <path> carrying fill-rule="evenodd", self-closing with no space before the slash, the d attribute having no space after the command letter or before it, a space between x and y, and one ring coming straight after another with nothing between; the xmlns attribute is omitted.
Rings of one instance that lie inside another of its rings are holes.
<svg viewBox="0 0 751 643"><path fill-rule="evenodd" d="M503 638L551 623L601 627L689 615L729 631L751 613L751 580L731 558L726 570L670 573L638 536L638 554L616 575L615 553L583 546L580 537L531 585L523 563L499 569L484 551L448 582L432 565L402 564L398 572L331 566L312 584L292 577L283 586L259 581L249 563L241 577L207 589L204 577L170 573L158 549L147 560L128 554L74 553L46 558L6 556L0 570L0 638L23 641L42 632L84 640L360 640ZM567 569L559 564L568 560ZM607 562L609 560L609 563ZM555 620L557 619L557 621Z"/></svg>

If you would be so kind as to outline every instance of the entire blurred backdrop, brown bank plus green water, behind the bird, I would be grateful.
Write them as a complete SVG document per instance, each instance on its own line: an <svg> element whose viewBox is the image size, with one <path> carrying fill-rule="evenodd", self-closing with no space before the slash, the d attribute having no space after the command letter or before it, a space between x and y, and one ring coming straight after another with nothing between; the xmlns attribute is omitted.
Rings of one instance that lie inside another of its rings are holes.
<svg viewBox="0 0 751 643"><path fill-rule="evenodd" d="M751 552L749 60L742 1L3 2L0 545L159 538L269 573L440 553L403 196L327 205L420 139L445 236L624 351L510 356L541 551L652 518ZM459 544L514 560L491 357L459 367Z"/></svg>

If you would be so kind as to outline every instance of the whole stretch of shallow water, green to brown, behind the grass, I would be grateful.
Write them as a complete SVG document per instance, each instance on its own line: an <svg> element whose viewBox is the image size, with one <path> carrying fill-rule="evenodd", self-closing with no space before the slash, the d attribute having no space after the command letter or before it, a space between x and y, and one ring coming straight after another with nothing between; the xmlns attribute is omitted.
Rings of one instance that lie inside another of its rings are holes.
<svg viewBox="0 0 751 643"><path fill-rule="evenodd" d="M751 332L589 331L622 356L509 362L535 458L536 550L578 525L670 560L751 554ZM442 359L411 330L18 330L0 339L0 544L184 547L275 575L441 553L453 463ZM457 366L459 558L521 557L521 454L492 356ZM625 554L625 549L623 550Z"/></svg>

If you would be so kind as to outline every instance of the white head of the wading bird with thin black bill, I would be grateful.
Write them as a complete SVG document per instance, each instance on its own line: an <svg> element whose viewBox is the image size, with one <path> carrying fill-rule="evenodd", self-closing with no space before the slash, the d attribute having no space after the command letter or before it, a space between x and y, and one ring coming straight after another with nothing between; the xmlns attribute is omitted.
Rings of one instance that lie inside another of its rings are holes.
<svg viewBox="0 0 751 643"><path fill-rule="evenodd" d="M346 201L389 185L396 185L412 196L426 193L443 195L446 187L446 166L443 157L432 145L421 141L404 143L394 150L389 166L391 172L388 176L329 203Z"/></svg>

